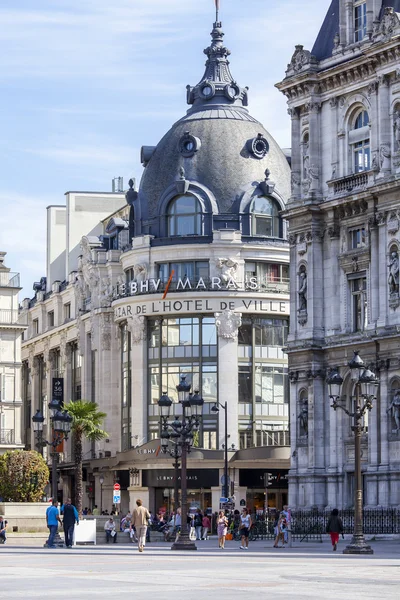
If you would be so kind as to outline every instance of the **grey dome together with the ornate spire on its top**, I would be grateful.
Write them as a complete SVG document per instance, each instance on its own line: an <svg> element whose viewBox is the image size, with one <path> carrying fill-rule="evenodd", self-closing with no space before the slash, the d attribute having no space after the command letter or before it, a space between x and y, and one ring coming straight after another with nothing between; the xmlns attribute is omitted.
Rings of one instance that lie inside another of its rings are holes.
<svg viewBox="0 0 400 600"><path fill-rule="evenodd" d="M196 86L187 87L191 105L187 115L172 126L156 147L142 148L145 170L136 218L140 216L156 237L160 235L157 222L161 211L165 211L162 199L168 190L170 195L173 193L174 182L179 179L202 187L213 198L212 212L220 215L238 214L242 198L264 182L267 169L281 206L290 196L287 159L245 108L248 88L241 88L231 75L230 52L223 45L221 23L214 23L211 36L211 45L204 50L208 57L204 75ZM196 145L191 154L183 151L182 140L188 137ZM262 140L264 152L257 153L251 145L257 138Z"/></svg>

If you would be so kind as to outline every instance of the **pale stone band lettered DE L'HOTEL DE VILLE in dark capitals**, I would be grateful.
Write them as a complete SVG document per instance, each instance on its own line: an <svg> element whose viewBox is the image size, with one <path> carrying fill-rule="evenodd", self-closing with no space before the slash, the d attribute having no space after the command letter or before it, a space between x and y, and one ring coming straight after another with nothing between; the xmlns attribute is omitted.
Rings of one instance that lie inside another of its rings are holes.
<svg viewBox="0 0 400 600"><path fill-rule="evenodd" d="M139 299L138 299L139 300ZM129 303L114 307L116 319L126 319L135 315L216 313L224 310L241 313L289 314L289 302L277 300L255 300L251 298L201 298L188 300L154 300Z"/></svg>

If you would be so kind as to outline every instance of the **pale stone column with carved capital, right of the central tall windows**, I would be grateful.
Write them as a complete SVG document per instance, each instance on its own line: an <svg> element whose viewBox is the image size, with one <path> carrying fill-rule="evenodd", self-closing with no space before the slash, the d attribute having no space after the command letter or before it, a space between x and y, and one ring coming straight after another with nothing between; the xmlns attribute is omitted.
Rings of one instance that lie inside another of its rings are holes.
<svg viewBox="0 0 400 600"><path fill-rule="evenodd" d="M239 448L238 398L238 330L242 323L240 313L224 310L215 313L218 330L218 402L228 402L229 445ZM225 411L218 413L218 447L225 443Z"/></svg>

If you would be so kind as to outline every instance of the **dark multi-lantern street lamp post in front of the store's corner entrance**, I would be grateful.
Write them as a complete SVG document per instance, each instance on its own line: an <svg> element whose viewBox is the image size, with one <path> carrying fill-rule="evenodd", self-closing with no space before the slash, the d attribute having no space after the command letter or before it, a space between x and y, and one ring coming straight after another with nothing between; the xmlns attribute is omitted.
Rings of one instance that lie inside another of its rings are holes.
<svg viewBox="0 0 400 600"><path fill-rule="evenodd" d="M187 455L193 446L193 434L200 429L204 400L197 391L194 394L190 393L191 385L186 382L184 375L181 376L176 389L178 402L182 405L181 419L178 415L174 415L174 420L170 421L172 400L168 398L166 392L158 401L162 452L171 454L169 450L171 444L172 452L175 452L175 455L172 454L175 456L175 462L177 463L179 454L181 457L181 534L179 539L172 544L171 550L197 550L196 544L190 540L187 530ZM176 450L173 449L174 447ZM177 493L177 486L175 490Z"/></svg>

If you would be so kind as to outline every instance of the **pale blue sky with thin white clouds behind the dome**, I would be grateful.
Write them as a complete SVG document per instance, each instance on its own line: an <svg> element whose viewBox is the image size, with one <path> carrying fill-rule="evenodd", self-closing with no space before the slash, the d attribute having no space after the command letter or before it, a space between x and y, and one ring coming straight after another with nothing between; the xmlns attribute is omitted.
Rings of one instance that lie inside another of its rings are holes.
<svg viewBox="0 0 400 600"><path fill-rule="evenodd" d="M294 46L311 50L330 0L221 0L231 71L249 110L290 147L274 87ZM203 75L214 0L1 0L0 250L20 298L45 275L46 206L66 191L140 178Z"/></svg>

